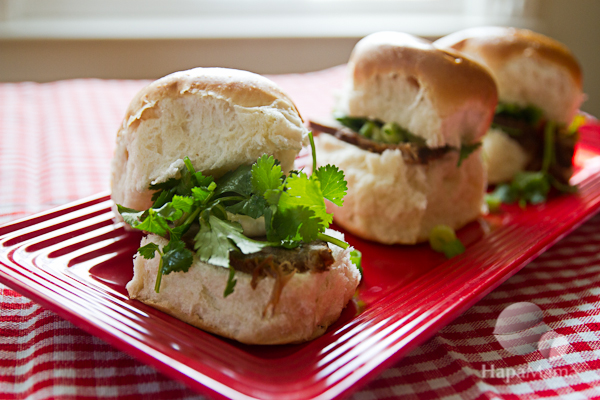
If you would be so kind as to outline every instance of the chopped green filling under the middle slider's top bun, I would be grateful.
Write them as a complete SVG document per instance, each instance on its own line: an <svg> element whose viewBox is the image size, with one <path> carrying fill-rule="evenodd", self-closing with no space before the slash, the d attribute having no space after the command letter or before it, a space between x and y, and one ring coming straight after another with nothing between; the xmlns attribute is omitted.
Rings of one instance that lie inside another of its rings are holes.
<svg viewBox="0 0 600 400"><path fill-rule="evenodd" d="M427 147L425 139L402 128L396 122L384 123L377 119L349 117L347 115L336 116L336 120L345 127L375 142L387 144L412 143L418 147ZM457 166L460 167L462 162L480 146L481 143L463 143L460 148L450 147L449 150L458 151Z"/></svg>

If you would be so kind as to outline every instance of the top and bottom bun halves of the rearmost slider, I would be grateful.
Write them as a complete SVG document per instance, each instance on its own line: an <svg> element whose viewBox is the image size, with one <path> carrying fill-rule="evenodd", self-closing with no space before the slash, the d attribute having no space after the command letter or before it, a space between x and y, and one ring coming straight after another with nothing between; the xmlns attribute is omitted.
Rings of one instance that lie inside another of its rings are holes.
<svg viewBox="0 0 600 400"><path fill-rule="evenodd" d="M472 28L445 36L434 45L457 50L485 65L496 80L499 102L535 106L544 119L559 126L571 123L584 100L581 68L574 55L562 43L539 33ZM533 136L541 141L541 133ZM535 159L541 154L532 154L500 130L490 131L483 138L483 147L490 183L510 181L517 172L529 169L530 163L539 165ZM570 173L565 171L563 179L568 181Z"/></svg>

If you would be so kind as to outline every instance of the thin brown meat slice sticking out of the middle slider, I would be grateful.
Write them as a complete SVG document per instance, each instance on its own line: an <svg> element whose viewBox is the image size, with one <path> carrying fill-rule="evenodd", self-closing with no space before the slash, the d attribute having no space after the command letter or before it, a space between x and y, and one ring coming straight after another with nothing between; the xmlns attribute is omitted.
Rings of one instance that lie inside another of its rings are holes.
<svg viewBox="0 0 600 400"><path fill-rule="evenodd" d="M407 164L427 164L431 160L442 158L446 153L452 150L450 146L430 149L429 147L419 146L415 143L388 144L376 142L349 128L334 128L312 121L310 122L310 127L313 130L333 135L339 140L353 144L363 150L370 151L371 153L381 154L385 150L400 150L402 158Z"/></svg>

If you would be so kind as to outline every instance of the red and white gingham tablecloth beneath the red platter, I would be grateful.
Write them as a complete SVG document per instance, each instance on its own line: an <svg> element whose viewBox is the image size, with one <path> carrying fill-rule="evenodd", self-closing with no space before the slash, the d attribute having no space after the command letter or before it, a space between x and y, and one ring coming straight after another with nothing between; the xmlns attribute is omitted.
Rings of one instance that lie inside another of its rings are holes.
<svg viewBox="0 0 600 400"><path fill-rule="evenodd" d="M315 115L331 106L325 89L340 73L274 78ZM0 84L0 222L107 190L117 127L146 83ZM594 217L353 398L600 397L599 250ZM515 303L541 321L541 351L494 334ZM0 399L50 398L202 397L0 285Z"/></svg>

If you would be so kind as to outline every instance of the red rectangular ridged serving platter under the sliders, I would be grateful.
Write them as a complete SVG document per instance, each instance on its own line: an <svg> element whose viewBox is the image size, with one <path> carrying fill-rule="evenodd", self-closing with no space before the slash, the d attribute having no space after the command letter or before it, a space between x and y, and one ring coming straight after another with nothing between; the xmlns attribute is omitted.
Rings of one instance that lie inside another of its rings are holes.
<svg viewBox="0 0 600 400"><path fill-rule="evenodd" d="M247 346L130 300L125 284L140 234L113 221L107 193L0 227L0 281L201 393L240 399L348 395L398 361L600 207L600 126L582 129L576 194L503 206L458 232L446 260L427 245L363 252L355 299L322 337Z"/></svg>

